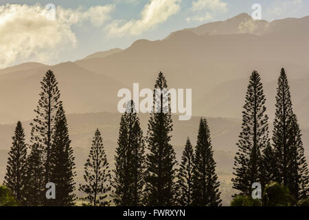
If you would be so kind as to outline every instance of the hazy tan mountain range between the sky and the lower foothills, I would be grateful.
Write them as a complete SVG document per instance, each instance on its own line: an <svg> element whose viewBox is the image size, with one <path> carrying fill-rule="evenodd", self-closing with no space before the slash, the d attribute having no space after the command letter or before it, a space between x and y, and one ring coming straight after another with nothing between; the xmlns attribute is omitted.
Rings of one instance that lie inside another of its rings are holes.
<svg viewBox="0 0 309 220"><path fill-rule="evenodd" d="M133 83L152 88L161 71L170 88L192 88L194 115L234 118L240 118L247 80L256 69L272 118L275 80L284 67L295 112L301 126L308 127L308 25L309 17L269 23L240 14L173 32L161 41L139 40L126 50L99 52L74 63L24 63L1 69L0 122L33 117L38 83L47 69L58 78L67 113L116 112L119 89L132 89Z"/></svg>

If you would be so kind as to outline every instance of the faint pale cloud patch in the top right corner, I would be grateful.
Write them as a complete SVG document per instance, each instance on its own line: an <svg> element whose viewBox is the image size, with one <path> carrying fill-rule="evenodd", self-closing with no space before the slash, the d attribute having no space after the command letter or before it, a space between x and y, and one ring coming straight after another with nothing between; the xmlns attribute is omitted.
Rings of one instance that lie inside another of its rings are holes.
<svg viewBox="0 0 309 220"><path fill-rule="evenodd" d="M303 5L303 0L276 0L269 6L266 14L269 14L273 19L282 15L293 17L296 12L303 8Z"/></svg>

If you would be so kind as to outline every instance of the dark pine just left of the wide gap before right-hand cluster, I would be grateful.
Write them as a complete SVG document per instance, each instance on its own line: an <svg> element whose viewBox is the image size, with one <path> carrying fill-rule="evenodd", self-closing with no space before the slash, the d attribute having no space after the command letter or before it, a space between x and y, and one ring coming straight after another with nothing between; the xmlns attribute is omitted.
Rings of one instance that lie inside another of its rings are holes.
<svg viewBox="0 0 309 220"><path fill-rule="evenodd" d="M194 157L193 205L220 206L218 176L215 173L214 151L205 118L201 118Z"/></svg>

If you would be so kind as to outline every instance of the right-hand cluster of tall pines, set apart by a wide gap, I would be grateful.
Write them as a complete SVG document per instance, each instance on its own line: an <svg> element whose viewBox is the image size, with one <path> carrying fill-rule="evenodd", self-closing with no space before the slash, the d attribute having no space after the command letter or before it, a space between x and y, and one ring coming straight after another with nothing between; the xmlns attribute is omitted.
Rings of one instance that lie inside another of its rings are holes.
<svg viewBox="0 0 309 220"><path fill-rule="evenodd" d="M264 188L271 181L276 181L288 187L297 202L309 197L309 172L284 69L277 82L275 98L271 142L263 85L258 72L253 72L242 112L242 131L233 168L233 188L242 195L251 196L253 183L258 182Z"/></svg>

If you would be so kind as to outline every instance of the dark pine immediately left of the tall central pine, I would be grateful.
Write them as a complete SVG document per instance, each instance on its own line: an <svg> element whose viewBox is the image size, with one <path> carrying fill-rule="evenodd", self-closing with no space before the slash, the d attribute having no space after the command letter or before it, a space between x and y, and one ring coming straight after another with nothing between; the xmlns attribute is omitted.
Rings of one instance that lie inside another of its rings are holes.
<svg viewBox="0 0 309 220"><path fill-rule="evenodd" d="M133 101L122 115L115 155L113 194L116 206L141 206L145 144Z"/></svg>

